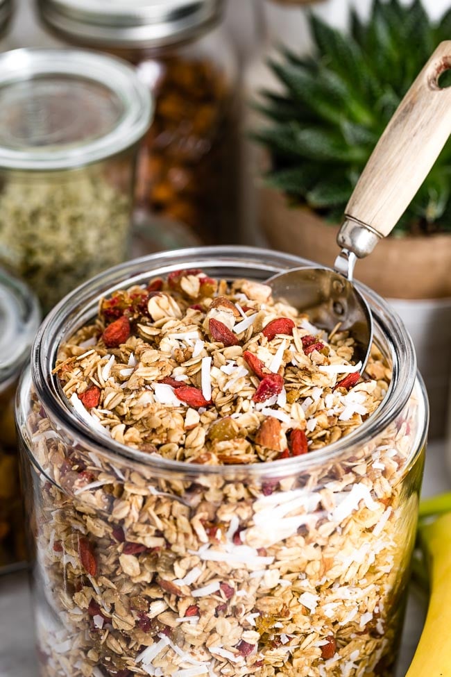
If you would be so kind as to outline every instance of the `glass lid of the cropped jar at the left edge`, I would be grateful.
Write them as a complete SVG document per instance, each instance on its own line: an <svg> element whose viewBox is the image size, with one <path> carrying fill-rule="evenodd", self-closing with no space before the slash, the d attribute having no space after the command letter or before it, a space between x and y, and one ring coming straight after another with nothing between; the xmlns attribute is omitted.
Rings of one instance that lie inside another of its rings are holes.
<svg viewBox="0 0 451 677"><path fill-rule="evenodd" d="M19 375L39 323L35 296L0 268L0 392Z"/></svg>

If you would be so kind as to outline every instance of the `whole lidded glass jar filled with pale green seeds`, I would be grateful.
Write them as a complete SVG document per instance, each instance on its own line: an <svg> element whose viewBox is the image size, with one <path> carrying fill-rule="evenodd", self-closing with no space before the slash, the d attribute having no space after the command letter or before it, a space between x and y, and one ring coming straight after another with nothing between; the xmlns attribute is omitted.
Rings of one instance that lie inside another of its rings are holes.
<svg viewBox="0 0 451 677"><path fill-rule="evenodd" d="M0 265L43 310L127 258L151 100L130 66L82 50L0 56Z"/></svg>

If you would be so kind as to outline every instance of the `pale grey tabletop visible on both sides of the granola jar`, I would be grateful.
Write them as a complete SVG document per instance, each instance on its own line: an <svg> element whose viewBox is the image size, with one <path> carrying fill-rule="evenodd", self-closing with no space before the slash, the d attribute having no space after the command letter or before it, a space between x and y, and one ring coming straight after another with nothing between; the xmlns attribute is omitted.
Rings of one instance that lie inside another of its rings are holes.
<svg viewBox="0 0 451 677"><path fill-rule="evenodd" d="M443 442L429 444L423 496L451 488ZM425 615L426 600L412 592L397 677L405 675L414 653ZM0 677L37 677L33 619L26 574L0 578Z"/></svg>

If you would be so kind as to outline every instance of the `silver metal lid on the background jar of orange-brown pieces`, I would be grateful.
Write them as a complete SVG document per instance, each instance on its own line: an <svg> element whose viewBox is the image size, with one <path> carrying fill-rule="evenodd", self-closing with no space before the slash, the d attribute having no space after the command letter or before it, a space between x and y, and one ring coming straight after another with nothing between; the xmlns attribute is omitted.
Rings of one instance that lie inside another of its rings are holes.
<svg viewBox="0 0 451 677"><path fill-rule="evenodd" d="M159 47L221 19L224 0L38 0L42 20L83 44Z"/></svg>

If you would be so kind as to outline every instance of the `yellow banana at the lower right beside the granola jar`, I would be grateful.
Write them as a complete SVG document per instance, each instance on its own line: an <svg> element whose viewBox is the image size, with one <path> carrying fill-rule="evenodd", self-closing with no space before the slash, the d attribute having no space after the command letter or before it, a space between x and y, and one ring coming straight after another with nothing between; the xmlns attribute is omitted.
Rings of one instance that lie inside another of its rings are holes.
<svg viewBox="0 0 451 677"><path fill-rule="evenodd" d="M420 528L430 558L431 594L406 677L451 677L451 512Z"/></svg>

